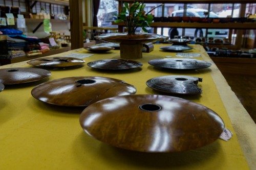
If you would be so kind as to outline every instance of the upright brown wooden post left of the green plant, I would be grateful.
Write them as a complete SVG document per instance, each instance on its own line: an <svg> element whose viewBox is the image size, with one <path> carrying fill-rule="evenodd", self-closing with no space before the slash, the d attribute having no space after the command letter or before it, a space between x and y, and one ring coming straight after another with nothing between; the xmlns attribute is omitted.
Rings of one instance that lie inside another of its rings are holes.
<svg viewBox="0 0 256 170"><path fill-rule="evenodd" d="M71 49L83 47L82 0L70 0Z"/></svg>

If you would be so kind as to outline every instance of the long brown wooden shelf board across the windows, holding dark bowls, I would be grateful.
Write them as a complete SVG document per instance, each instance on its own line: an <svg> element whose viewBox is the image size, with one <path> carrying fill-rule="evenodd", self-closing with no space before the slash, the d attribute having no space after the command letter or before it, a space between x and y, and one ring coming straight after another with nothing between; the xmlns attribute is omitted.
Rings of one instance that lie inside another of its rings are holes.
<svg viewBox="0 0 256 170"><path fill-rule="evenodd" d="M124 26L123 23L114 23L113 25ZM170 27L170 28L204 28L204 29L241 29L241 30L255 30L256 22L245 23L199 23L199 22L153 22L151 27Z"/></svg>

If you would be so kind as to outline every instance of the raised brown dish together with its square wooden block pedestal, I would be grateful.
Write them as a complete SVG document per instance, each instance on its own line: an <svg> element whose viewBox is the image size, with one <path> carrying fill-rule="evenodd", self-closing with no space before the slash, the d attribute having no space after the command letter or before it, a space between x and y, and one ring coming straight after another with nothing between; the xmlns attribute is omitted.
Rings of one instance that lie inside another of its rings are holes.
<svg viewBox="0 0 256 170"><path fill-rule="evenodd" d="M165 36L158 34L136 33L135 35L127 35L127 33L110 33L95 36L95 38L120 43L120 57L123 59L142 58L142 44L155 42L165 39Z"/></svg>

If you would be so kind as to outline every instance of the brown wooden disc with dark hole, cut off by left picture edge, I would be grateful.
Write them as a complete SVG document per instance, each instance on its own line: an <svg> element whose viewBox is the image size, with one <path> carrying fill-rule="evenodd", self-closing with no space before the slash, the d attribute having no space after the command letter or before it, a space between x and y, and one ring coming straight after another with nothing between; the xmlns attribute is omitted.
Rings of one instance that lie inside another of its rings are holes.
<svg viewBox="0 0 256 170"><path fill-rule="evenodd" d="M3 68L0 69L0 83L4 85L35 82L51 76L51 72L40 68Z"/></svg>

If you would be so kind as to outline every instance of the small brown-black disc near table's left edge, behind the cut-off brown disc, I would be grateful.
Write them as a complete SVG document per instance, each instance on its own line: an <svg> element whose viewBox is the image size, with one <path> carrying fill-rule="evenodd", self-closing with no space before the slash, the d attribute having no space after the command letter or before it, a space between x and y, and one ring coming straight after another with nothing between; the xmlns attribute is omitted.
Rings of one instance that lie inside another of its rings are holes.
<svg viewBox="0 0 256 170"><path fill-rule="evenodd" d="M73 57L44 57L30 60L27 63L33 66L61 68L78 66L84 62L84 60Z"/></svg>

